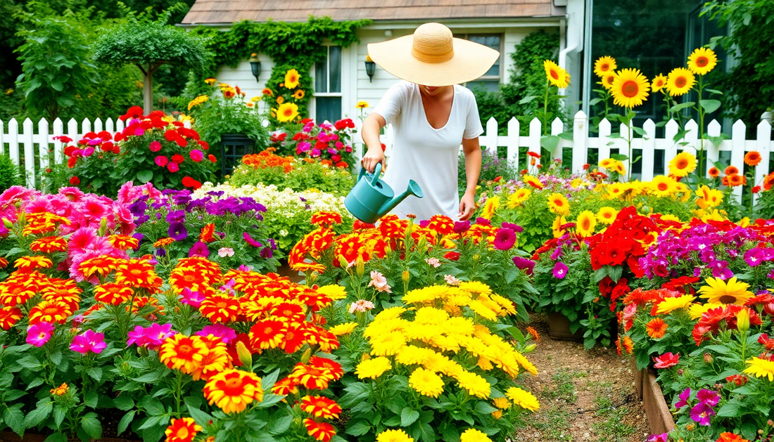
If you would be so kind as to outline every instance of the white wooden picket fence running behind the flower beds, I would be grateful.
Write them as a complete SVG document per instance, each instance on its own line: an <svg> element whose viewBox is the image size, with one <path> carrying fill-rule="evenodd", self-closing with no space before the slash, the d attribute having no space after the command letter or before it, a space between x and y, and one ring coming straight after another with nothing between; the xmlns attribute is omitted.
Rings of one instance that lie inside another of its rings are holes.
<svg viewBox="0 0 774 442"><path fill-rule="evenodd" d="M358 129L361 122L356 122ZM53 137L58 135L67 135L67 137L73 140L79 140L83 134L94 131L99 132L102 130L109 131L113 134L117 131L124 129L124 122L116 120L115 122L108 118L106 121L96 119L94 124L90 121L84 120L80 127L74 119L70 119L67 122L67 131L64 131L63 122L57 118L53 121L53 124L49 124L45 119L41 119L38 123L37 131L35 131L33 121L27 118L22 123L22 131L19 131L19 122L12 119L7 124L8 130L5 130L5 124L0 121L0 154L5 154L6 149L9 151L10 158L16 165L23 160L23 168L26 174L27 185L36 185L36 178L39 179L41 171L45 171L50 167L50 161L60 164L63 162L63 144L60 141L53 140ZM626 135L625 125L621 125L619 131L612 131L612 125L609 121L603 120L599 124L599 131L597 136L589 136L589 121L583 111L579 111L575 114L573 121L573 139L566 140L561 138L559 144L551 152L551 158L563 158L564 149L570 149L572 156L572 170L574 172L581 172L583 165L588 162L589 152L592 150L598 151L598 158L609 158L611 150L618 150L620 153L626 153L628 151L628 144L625 138ZM656 170L666 170L666 165L670 162L675 155L680 151L691 151L695 153L700 147L699 145L699 132L698 124L690 120L685 125L687 134L680 140L675 141L675 135L680 130L676 121L670 121L664 128L663 138L656 138L656 123L652 120L648 120L642 125L642 130L645 132L644 137L636 135L632 137L632 150L642 151L642 173L636 176L643 181L652 179L656 174ZM563 123L558 118L551 124L551 134L558 135L564 131ZM359 132L359 131L358 131ZM611 134L623 134L623 138L611 138ZM488 149L505 148L509 159L517 162L519 161L519 148L527 148L528 151L540 153L540 137L542 134L542 128L540 121L536 118L529 123L529 134L526 136L520 135L519 121L513 117L508 122L508 131L505 135L498 135L498 123L494 118L491 118L486 124L486 131L481 135L481 146ZM721 124L717 121L711 121L707 124L707 134L717 137L721 134ZM736 121L731 129L731 138L724 140L718 145L713 145L710 141L704 140L704 148L707 151L707 168L712 167L712 162L717 161L720 158L721 151L731 152L731 165L736 165L738 168L742 168L745 153L748 151L759 151L762 157L762 162L755 171L756 183L762 180L762 177L769 173L769 158L772 150L774 150L774 144L772 144L772 125L769 121L761 121L757 127L757 137L754 140L748 140L745 138L746 126L742 121ZM392 148L392 128L387 128L385 134L382 135L382 141L388 146L387 153ZM355 142L361 143L361 138L358 135L354 138ZM37 147L37 148L36 148ZM37 151L37 153L36 153ZM354 149L357 156L359 156L361 149ZM663 151L663 164L658 165L656 168L656 151ZM543 162L546 162L546 158L542 158ZM631 166L626 164L627 170ZM39 184L39 181L37 182ZM738 187L735 189L735 194L741 196L742 189Z"/></svg>

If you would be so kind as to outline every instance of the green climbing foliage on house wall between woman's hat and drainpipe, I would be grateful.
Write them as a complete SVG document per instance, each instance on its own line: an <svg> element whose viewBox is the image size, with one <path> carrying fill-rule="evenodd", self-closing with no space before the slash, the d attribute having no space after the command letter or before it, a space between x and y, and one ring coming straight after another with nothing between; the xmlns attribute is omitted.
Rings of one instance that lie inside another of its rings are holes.
<svg viewBox="0 0 774 442"><path fill-rule="evenodd" d="M543 106L542 100L522 100L545 95L546 71L543 69L543 61L556 61L558 52L559 36L542 29L529 34L517 44L510 54L514 64L509 82L501 84L497 92L474 89L481 124L486 126L489 118L495 117L498 127L505 133L508 121L516 116L521 124L522 135L526 135L529 121L536 117L536 112L543 110ZM555 100L548 110L554 115L560 115L560 105Z"/></svg>

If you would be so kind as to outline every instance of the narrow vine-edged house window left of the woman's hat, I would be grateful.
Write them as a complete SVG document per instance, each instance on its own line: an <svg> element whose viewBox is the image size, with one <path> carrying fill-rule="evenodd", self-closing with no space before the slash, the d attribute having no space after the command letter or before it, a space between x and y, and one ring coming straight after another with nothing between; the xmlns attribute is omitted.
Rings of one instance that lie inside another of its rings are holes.
<svg viewBox="0 0 774 442"><path fill-rule="evenodd" d="M341 46L326 46L327 55L314 66L315 121L341 119Z"/></svg>

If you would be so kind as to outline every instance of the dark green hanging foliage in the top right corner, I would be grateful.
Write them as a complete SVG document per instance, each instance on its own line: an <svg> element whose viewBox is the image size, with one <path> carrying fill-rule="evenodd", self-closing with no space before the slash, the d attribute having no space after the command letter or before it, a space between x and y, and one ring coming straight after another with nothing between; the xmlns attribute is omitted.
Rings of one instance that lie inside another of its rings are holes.
<svg viewBox="0 0 774 442"><path fill-rule="evenodd" d="M731 29L729 36L715 37L710 44L734 53L731 72L717 86L726 93L724 114L741 119L748 133L755 134L761 114L771 109L774 94L774 54L768 47L774 38L774 2L712 1L704 4L702 14Z"/></svg>

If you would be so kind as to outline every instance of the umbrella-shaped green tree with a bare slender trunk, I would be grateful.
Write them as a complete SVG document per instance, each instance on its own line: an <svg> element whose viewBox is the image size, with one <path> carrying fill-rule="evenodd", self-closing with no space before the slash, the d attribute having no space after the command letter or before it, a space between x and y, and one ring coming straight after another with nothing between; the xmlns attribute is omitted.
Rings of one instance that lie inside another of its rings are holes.
<svg viewBox="0 0 774 442"><path fill-rule="evenodd" d="M200 37L165 23L173 12L168 9L159 19L129 12L125 25L111 29L94 44L94 62L107 66L134 64L142 72L143 111L153 110L153 73L170 64L201 70L209 53Z"/></svg>

